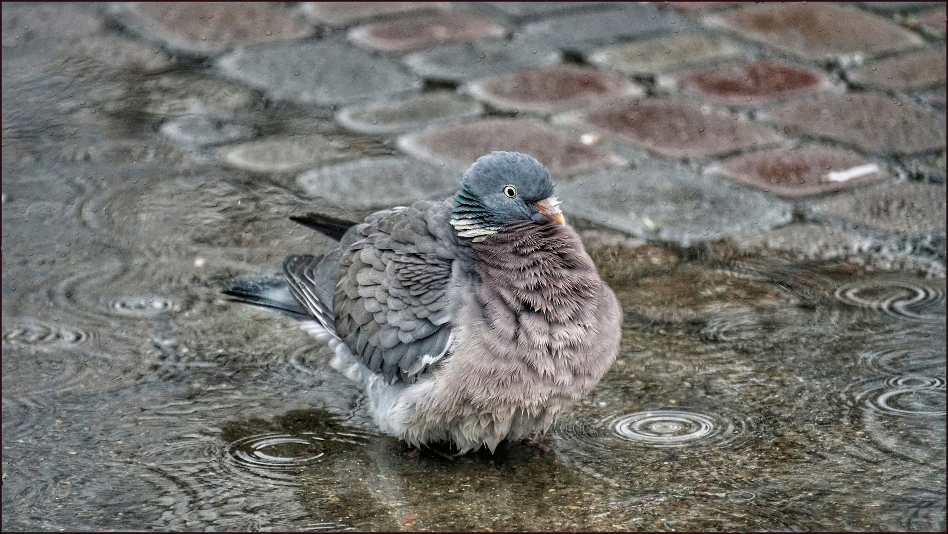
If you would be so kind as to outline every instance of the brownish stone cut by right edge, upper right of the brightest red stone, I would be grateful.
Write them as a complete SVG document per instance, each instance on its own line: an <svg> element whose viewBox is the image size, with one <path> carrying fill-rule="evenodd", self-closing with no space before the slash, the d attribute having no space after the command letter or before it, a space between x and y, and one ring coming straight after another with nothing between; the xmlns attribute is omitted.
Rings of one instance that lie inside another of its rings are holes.
<svg viewBox="0 0 948 534"><path fill-rule="evenodd" d="M945 51L922 50L863 65L849 71L849 80L859 85L889 91L918 91L945 82Z"/></svg>

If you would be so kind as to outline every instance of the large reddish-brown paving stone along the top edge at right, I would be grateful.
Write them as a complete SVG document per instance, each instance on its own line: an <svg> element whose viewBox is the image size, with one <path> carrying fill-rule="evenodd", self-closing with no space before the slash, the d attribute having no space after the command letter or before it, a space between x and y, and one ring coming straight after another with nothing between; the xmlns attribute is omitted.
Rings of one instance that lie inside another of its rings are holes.
<svg viewBox="0 0 948 534"><path fill-rule="evenodd" d="M918 35L866 11L812 2L766 4L705 20L811 60L874 56L923 44Z"/></svg>

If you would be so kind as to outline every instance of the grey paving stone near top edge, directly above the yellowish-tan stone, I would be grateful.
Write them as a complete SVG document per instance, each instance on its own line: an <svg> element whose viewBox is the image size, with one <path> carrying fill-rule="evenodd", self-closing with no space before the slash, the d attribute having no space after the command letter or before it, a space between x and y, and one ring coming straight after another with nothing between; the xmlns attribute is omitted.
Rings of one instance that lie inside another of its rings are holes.
<svg viewBox="0 0 948 534"><path fill-rule="evenodd" d="M671 9L644 3L622 3L615 9L550 17L520 29L527 40L554 48L590 50L621 41L676 33L687 23Z"/></svg>

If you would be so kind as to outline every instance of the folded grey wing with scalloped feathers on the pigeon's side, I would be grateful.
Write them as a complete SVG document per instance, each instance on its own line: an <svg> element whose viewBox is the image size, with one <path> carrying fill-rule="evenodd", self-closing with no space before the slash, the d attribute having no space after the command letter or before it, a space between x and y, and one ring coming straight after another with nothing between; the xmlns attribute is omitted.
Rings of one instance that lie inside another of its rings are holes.
<svg viewBox="0 0 948 534"><path fill-rule="evenodd" d="M420 202L376 212L353 228L356 240L339 260L335 331L390 383L413 383L447 353L447 290L459 258L450 209Z"/></svg>

